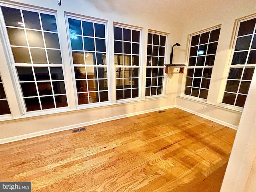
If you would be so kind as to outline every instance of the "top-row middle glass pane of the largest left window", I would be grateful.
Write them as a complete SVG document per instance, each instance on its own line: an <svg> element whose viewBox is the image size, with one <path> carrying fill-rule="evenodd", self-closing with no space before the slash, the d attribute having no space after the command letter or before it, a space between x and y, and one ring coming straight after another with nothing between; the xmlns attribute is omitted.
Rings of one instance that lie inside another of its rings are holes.
<svg viewBox="0 0 256 192"><path fill-rule="evenodd" d="M41 30L38 13L25 10L22 10L22 13L26 28Z"/></svg>

